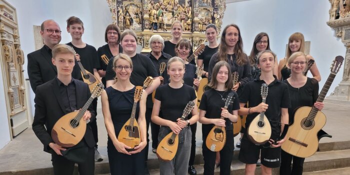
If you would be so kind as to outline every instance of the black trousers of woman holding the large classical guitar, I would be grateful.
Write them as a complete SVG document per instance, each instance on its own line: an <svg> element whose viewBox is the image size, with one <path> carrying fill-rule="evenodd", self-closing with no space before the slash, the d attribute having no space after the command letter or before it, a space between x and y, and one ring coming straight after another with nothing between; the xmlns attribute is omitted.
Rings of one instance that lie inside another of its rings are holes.
<svg viewBox="0 0 350 175"><path fill-rule="evenodd" d="M300 158L297 156L293 156L284 150L280 152L280 167L279 174L280 175L298 175L302 174L303 164L305 158ZM293 161L293 166L291 167L291 161Z"/></svg>

